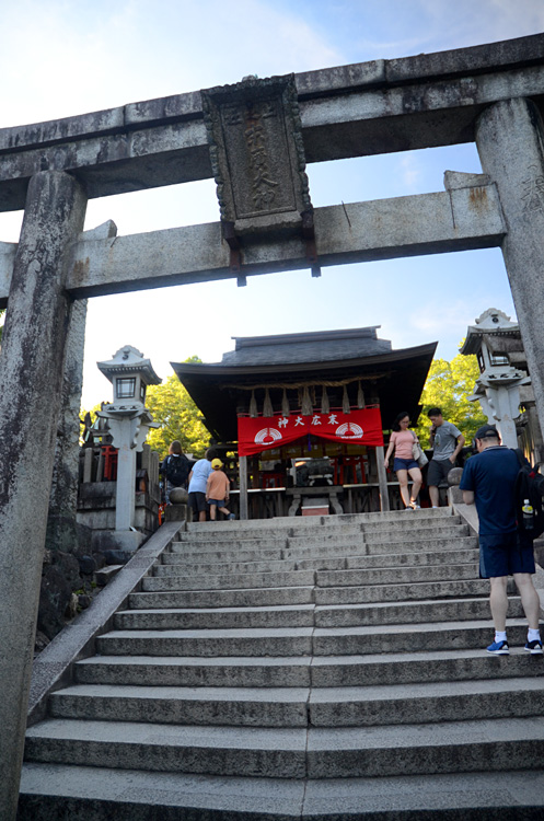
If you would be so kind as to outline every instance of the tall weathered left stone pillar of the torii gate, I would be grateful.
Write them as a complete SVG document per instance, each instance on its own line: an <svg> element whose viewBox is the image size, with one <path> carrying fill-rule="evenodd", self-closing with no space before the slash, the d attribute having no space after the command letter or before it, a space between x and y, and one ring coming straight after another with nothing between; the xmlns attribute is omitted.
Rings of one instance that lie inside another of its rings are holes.
<svg viewBox="0 0 544 821"><path fill-rule="evenodd" d="M15 818L62 366L65 254L86 197L69 174L32 177L0 357L0 818Z"/></svg>

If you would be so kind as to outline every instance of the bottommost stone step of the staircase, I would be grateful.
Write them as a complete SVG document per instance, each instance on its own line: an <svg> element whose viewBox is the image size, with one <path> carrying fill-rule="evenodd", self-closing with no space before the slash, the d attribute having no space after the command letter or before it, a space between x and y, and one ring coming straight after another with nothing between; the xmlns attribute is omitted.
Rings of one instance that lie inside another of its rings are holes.
<svg viewBox="0 0 544 821"><path fill-rule="evenodd" d="M402 772L402 771L401 771ZM508 800L505 801L505 797ZM18 821L540 821L536 771L242 778L26 763Z"/></svg>

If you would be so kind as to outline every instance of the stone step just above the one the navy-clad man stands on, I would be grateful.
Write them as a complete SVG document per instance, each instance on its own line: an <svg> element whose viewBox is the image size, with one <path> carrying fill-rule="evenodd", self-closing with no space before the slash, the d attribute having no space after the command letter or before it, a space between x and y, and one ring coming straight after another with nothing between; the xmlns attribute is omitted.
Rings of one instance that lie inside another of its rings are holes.
<svg viewBox="0 0 544 821"><path fill-rule="evenodd" d="M509 638L525 640L526 624L510 620ZM369 625L357 627L275 627L244 629L112 631L97 638L100 654L112 656L360 656L484 649L493 639L489 622Z"/></svg>

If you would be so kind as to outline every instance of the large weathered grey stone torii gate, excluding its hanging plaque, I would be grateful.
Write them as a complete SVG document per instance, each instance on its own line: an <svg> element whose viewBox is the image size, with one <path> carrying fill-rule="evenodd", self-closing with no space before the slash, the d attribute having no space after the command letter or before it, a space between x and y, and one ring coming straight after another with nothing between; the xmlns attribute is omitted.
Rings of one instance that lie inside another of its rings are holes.
<svg viewBox="0 0 544 821"><path fill-rule="evenodd" d="M499 246L544 429L543 104L535 35L0 130L0 210L25 209L19 244L0 243L2 819L15 817L57 427L79 408L81 300ZM471 140L484 174L448 172L444 192L312 209L304 162ZM220 222L82 233L88 198L210 176Z"/></svg>

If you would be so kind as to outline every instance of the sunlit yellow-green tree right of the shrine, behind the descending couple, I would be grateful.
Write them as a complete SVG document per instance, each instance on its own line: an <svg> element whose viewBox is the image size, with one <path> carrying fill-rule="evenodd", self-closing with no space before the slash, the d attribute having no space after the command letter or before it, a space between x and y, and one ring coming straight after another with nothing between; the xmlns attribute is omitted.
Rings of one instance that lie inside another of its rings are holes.
<svg viewBox="0 0 544 821"><path fill-rule="evenodd" d="M474 385L479 377L479 368L475 356L458 354L451 362L445 359L435 359L429 370L421 405L424 409L415 431L424 448L429 447L429 427L427 410L440 407L448 421L452 421L470 443L476 430L485 425L487 417L483 414L479 402L470 402L468 396L474 393Z"/></svg>

